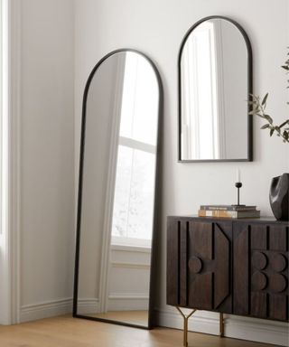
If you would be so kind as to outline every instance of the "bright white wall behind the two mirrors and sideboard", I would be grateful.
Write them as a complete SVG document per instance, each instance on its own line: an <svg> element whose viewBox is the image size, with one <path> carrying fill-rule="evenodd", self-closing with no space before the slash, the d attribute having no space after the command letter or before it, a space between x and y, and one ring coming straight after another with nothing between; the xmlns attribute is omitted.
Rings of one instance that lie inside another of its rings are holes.
<svg viewBox="0 0 289 347"><path fill-rule="evenodd" d="M202 203L235 202L235 170L240 168L244 187L241 202L257 204L271 215L268 189L272 177L288 172L289 147L279 138L269 138L254 119L254 162L219 164L177 163L177 57L182 37L200 18L220 14L240 23L247 31L254 54L254 87L258 94L269 91L268 111L276 122L287 117L286 78L280 69L288 46L288 1L244 0L75 0L75 115L76 146L79 145L81 102L90 70L107 52L135 48L156 63L163 78L163 227L159 230L159 278L156 314L159 324L181 326L174 310L165 305L166 216L193 214ZM261 20L260 20L261 18ZM268 23L271 23L270 25ZM76 158L79 152L76 147ZM247 318L227 320L226 334L240 338L286 342L286 325ZM218 332L217 315L199 314L191 329ZM181 339L181 337L180 337Z"/></svg>

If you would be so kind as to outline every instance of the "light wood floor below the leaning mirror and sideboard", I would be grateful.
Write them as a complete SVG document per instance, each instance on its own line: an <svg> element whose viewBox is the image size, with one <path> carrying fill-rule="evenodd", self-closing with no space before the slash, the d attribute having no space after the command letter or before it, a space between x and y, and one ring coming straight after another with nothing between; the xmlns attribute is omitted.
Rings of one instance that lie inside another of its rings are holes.
<svg viewBox="0 0 289 347"><path fill-rule="evenodd" d="M127 328L61 316L0 326L1 347L182 347L182 331ZM272 345L189 333L189 347L272 347Z"/></svg>

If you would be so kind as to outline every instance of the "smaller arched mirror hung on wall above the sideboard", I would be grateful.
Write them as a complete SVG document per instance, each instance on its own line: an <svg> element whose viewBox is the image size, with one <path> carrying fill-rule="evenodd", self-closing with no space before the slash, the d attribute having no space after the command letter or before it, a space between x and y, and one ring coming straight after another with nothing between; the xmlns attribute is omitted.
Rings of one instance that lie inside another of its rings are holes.
<svg viewBox="0 0 289 347"><path fill-rule="evenodd" d="M251 161L250 94L247 33L221 16L193 25L179 53L179 161Z"/></svg>

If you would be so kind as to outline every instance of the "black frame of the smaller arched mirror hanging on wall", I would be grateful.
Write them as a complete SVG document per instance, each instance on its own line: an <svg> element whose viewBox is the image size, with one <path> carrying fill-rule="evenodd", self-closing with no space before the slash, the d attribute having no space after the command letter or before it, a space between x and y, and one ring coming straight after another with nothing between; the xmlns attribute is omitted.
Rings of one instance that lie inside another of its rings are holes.
<svg viewBox="0 0 289 347"><path fill-rule="evenodd" d="M247 46L247 99L251 100L250 94L253 94L253 54L252 54L252 46L250 40L247 36L247 33L243 29L243 27L235 22L234 20L223 16L223 15L210 15L208 17L200 19L197 23L194 23L188 32L184 35L179 51L178 56L178 163L224 163L224 162L252 162L253 161L253 117L251 115L247 115L247 158L246 159L197 159L197 160L184 160L182 159L182 145L181 145L181 119L182 119L182 100L181 100L181 92L182 92L182 83L181 83L181 59L182 59L182 50L185 42L187 41L190 33L198 26L200 23L208 21L210 19L224 19L232 24L234 24L240 33L242 33L243 38L246 42ZM252 109L252 107L247 105L247 112Z"/></svg>

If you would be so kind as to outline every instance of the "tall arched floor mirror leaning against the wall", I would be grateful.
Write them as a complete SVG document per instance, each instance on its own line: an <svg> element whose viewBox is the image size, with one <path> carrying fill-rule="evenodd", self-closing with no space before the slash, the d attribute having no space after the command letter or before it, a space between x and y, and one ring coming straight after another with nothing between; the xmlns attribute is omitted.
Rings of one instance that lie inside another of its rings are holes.
<svg viewBox="0 0 289 347"><path fill-rule="evenodd" d="M162 83L134 50L107 54L84 92L73 315L150 328Z"/></svg>

